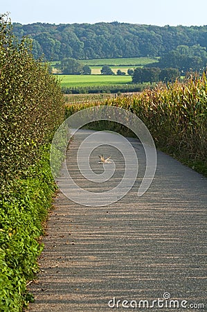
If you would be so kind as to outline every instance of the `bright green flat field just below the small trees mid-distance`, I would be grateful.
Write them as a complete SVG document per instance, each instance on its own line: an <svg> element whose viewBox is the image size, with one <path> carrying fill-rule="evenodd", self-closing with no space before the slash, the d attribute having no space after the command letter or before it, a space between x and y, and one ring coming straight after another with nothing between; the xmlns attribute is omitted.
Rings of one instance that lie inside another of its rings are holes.
<svg viewBox="0 0 207 312"><path fill-rule="evenodd" d="M91 87L132 83L131 76L61 75L58 77L62 87Z"/></svg>

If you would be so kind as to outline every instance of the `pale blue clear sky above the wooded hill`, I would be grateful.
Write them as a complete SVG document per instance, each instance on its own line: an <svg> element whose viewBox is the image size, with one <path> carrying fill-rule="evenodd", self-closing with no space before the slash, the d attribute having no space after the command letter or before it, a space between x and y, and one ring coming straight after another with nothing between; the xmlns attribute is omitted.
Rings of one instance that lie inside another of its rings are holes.
<svg viewBox="0 0 207 312"><path fill-rule="evenodd" d="M1 0L0 12L10 12L12 21L21 24L207 25L207 0Z"/></svg>

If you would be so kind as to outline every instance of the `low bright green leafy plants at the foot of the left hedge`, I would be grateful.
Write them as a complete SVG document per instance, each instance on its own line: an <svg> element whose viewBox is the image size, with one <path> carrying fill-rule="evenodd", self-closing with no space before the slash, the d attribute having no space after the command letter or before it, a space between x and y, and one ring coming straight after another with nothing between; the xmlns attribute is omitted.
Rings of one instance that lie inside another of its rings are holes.
<svg viewBox="0 0 207 312"><path fill-rule="evenodd" d="M0 311L19 312L28 304L26 282L38 270L37 256L55 184L48 148L39 161L28 167L25 178L12 184L9 198L0 200Z"/></svg>

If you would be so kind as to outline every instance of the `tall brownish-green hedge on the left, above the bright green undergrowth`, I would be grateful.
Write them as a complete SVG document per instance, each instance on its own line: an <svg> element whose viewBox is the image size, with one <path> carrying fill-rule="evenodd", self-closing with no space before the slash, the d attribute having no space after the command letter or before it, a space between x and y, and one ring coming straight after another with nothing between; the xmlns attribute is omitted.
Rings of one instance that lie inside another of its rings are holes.
<svg viewBox="0 0 207 312"><path fill-rule="evenodd" d="M1 196L40 157L62 121L63 96L47 65L33 59L27 39L17 44L12 27L0 24Z"/></svg>

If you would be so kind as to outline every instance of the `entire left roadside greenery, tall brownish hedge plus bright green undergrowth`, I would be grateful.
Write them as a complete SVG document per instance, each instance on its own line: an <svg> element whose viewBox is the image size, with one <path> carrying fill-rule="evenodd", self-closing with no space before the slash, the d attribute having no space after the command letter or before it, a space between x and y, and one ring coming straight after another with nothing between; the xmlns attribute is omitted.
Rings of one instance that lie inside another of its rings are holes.
<svg viewBox="0 0 207 312"><path fill-rule="evenodd" d="M0 15L0 311L21 311L55 184L50 142L64 119L60 83Z"/></svg>

